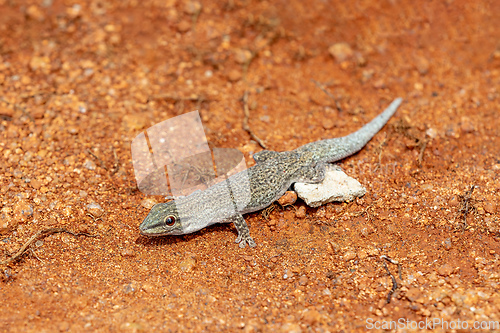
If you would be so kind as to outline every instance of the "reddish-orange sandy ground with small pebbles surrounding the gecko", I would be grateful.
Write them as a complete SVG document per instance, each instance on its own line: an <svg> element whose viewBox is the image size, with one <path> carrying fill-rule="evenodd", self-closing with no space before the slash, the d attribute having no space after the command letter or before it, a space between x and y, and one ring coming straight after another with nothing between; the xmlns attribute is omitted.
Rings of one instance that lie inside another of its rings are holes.
<svg viewBox="0 0 500 333"><path fill-rule="evenodd" d="M0 260L43 229L98 235L48 235L1 265L1 331L500 321L499 1L0 0L0 13ZM251 164L245 91L277 151L405 101L341 163L363 198L250 214L253 249L229 224L140 236L162 198L137 191L131 140L198 109L210 146ZM382 255L401 267L387 266L389 304Z"/></svg>

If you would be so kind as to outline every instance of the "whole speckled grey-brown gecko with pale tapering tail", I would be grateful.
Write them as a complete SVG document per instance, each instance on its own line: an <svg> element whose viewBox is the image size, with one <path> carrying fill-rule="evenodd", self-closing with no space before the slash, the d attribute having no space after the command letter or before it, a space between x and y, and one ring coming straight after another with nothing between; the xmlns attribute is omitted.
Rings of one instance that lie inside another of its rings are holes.
<svg viewBox="0 0 500 333"><path fill-rule="evenodd" d="M198 190L151 208L139 226L145 236L184 235L215 223L233 223L236 243L256 246L243 218L271 205L293 183L320 183L326 163L360 151L396 112L396 98L382 113L356 132L340 138L305 144L295 150L262 150L253 155L256 164L205 190Z"/></svg>

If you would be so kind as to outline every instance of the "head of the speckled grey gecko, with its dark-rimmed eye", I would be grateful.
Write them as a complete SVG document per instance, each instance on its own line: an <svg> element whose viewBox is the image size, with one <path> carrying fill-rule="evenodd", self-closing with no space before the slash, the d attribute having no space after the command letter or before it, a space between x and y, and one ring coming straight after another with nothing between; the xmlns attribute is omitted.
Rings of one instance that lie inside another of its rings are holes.
<svg viewBox="0 0 500 333"><path fill-rule="evenodd" d="M139 229L145 236L183 235L185 233L174 201L154 205Z"/></svg>

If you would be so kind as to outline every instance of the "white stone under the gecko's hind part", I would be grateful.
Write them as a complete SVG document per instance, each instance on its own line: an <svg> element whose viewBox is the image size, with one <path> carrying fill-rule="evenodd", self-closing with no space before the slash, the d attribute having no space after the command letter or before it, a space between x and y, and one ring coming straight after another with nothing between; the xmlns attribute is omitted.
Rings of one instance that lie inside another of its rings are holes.
<svg viewBox="0 0 500 333"><path fill-rule="evenodd" d="M352 201L362 197L366 189L354 178L334 164L326 165L323 182L318 184L295 183L295 192L309 207L318 207L333 201Z"/></svg>

